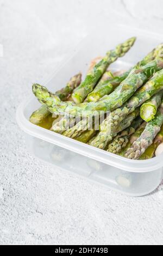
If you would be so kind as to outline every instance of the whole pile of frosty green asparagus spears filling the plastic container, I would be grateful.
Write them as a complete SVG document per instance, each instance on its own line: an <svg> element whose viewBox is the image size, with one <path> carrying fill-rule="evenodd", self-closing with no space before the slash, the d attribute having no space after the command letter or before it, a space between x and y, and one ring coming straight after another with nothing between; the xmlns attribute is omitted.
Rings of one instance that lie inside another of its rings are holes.
<svg viewBox="0 0 163 256"><path fill-rule="evenodd" d="M83 82L79 73L55 93L33 84L42 106L30 122L128 159L155 156L163 142L163 44L128 71L108 70L135 40L92 60Z"/></svg>

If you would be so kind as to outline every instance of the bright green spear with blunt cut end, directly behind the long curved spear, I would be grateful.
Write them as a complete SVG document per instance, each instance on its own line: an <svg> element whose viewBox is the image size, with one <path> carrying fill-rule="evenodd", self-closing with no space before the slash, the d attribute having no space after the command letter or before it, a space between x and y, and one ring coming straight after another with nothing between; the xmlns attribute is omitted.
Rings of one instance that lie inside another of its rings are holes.
<svg viewBox="0 0 163 256"><path fill-rule="evenodd" d="M124 72L124 74L122 74L120 76L115 76L113 78L109 77L107 80L100 81L97 84L96 88L93 90L93 92L87 96L86 101L87 102L91 102L91 101L97 102L104 95L109 95L110 93L112 93L117 88L117 86L119 86L120 83L127 78L130 71L131 70ZM108 74L109 74L109 72L108 72Z"/></svg>

